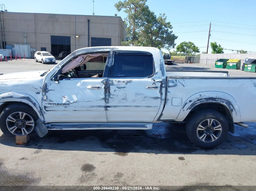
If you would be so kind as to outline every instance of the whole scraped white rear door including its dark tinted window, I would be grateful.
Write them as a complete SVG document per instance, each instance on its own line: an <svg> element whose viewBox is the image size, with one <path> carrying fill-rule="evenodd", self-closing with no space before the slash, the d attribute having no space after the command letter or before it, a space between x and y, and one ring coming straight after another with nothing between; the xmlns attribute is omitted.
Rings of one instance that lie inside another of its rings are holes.
<svg viewBox="0 0 256 191"><path fill-rule="evenodd" d="M152 122L161 104L151 53L117 51L106 90L108 122Z"/></svg>

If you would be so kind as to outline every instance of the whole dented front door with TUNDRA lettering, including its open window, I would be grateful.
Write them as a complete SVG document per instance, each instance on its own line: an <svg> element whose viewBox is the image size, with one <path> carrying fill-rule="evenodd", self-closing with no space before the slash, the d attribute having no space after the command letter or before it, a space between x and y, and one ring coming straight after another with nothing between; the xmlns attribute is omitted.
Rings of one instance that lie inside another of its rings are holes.
<svg viewBox="0 0 256 191"><path fill-rule="evenodd" d="M42 107L46 122L107 122L107 56L108 53L79 55L45 82ZM61 77L58 83L57 76Z"/></svg>

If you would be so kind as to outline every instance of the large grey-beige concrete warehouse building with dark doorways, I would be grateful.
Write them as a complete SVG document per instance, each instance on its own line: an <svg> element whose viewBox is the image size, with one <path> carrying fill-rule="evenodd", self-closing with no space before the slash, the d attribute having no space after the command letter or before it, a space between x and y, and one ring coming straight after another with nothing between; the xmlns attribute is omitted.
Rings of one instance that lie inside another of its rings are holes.
<svg viewBox="0 0 256 191"><path fill-rule="evenodd" d="M125 24L121 17L1 12L0 48L30 44L31 51L58 56L88 46L121 46Z"/></svg>

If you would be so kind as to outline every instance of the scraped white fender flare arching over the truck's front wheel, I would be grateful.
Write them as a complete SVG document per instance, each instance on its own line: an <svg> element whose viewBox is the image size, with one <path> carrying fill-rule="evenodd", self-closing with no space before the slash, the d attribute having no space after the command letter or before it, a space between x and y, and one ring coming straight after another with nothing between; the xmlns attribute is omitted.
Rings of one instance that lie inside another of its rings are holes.
<svg viewBox="0 0 256 191"><path fill-rule="evenodd" d="M44 115L41 106L39 103L35 100L34 97L30 96L29 94L25 93L16 93L16 92L5 92L0 94L0 102L5 103L9 101L16 101L16 102L22 102L28 104L30 107L32 107L35 112L37 113L39 119L45 123Z"/></svg>

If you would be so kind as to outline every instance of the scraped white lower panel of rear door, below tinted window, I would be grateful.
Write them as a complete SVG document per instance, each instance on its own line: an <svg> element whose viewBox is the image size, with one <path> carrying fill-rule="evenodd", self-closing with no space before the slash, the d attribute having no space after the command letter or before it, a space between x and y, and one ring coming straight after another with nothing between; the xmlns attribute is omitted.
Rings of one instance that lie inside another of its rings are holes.
<svg viewBox="0 0 256 191"><path fill-rule="evenodd" d="M161 103L158 89L146 89L154 78L108 79L106 113L108 122L152 122Z"/></svg>

